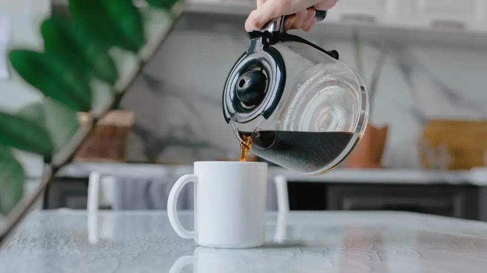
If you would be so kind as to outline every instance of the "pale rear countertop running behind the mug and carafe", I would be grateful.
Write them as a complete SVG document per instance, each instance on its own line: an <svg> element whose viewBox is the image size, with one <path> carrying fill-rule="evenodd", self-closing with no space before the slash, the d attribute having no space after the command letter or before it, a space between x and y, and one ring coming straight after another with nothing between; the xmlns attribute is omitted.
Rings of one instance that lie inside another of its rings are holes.
<svg viewBox="0 0 487 273"><path fill-rule="evenodd" d="M75 163L61 170L59 176L87 178L91 172L128 177L175 177L192 173L192 165ZM346 169L338 168L324 175L307 176L279 166L269 166L269 176L282 175L288 181L354 182L404 184L474 184L487 185L487 171L435 171L421 169Z"/></svg>

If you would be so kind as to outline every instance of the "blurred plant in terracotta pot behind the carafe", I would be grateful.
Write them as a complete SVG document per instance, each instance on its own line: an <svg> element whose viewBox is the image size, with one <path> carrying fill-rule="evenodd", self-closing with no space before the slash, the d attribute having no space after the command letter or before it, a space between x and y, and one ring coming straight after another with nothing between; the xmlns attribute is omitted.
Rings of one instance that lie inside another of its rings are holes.
<svg viewBox="0 0 487 273"><path fill-rule="evenodd" d="M356 68L360 75L364 76L362 65L362 46L357 32L353 34L353 43L355 50ZM375 63L371 81L368 85L370 110L369 117L372 117L374 111L375 95L380 73L384 67L385 61L389 55L390 48L381 49L380 55ZM389 126L376 127L368 123L365 133L356 147L354 153L347 160L347 167L350 168L379 168L384 153L387 133Z"/></svg>

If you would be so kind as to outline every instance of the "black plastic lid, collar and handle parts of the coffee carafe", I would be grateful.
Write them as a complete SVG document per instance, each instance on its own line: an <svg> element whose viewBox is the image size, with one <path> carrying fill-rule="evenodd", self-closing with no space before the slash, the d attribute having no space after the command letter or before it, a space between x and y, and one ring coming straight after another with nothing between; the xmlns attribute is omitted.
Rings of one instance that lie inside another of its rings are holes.
<svg viewBox="0 0 487 273"><path fill-rule="evenodd" d="M316 11L316 20L326 11ZM279 105L286 82L284 60L273 45L281 41L306 43L338 59L336 51L327 52L316 45L283 31L285 16L269 22L263 31L249 31L250 45L234 64L225 82L223 112L226 123L247 123L259 115L268 119Z"/></svg>

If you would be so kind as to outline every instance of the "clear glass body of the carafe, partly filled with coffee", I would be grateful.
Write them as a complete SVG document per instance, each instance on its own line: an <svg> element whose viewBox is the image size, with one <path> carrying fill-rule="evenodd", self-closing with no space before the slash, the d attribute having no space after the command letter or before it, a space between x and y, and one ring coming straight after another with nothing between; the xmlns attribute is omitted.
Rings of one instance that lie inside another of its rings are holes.
<svg viewBox="0 0 487 273"><path fill-rule="evenodd" d="M368 120L362 78L344 63L297 41L273 45L285 65L278 106L267 118L233 123L251 135L255 155L304 174L326 173L358 145Z"/></svg>

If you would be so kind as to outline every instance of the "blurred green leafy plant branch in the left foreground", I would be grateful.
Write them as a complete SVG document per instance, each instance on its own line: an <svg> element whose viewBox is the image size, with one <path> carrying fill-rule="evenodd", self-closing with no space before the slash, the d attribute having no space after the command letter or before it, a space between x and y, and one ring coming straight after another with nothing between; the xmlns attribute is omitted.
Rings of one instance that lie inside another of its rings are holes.
<svg viewBox="0 0 487 273"><path fill-rule="evenodd" d="M43 94L19 112L0 111L0 245L22 220L56 173L72 162L98 121L119 104L134 79L169 34L182 0L69 0L71 17L46 18L40 32L44 52L13 49L10 64ZM78 112L88 112L82 126ZM33 196L17 152L44 158Z"/></svg>

